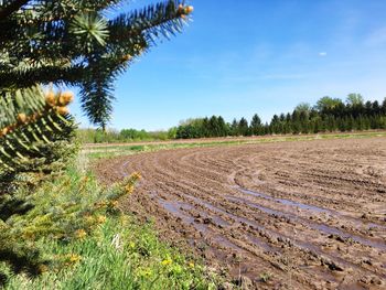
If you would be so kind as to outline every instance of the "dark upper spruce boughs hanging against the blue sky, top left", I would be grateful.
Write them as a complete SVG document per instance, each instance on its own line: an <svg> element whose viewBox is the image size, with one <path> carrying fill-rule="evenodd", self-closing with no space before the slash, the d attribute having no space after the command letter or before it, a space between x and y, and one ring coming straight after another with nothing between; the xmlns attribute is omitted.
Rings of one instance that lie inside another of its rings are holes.
<svg viewBox="0 0 386 290"><path fill-rule="evenodd" d="M116 77L157 39L181 32L193 10L169 0L106 17L121 2L0 1L0 92L50 82L79 86L85 114L105 129Z"/></svg>

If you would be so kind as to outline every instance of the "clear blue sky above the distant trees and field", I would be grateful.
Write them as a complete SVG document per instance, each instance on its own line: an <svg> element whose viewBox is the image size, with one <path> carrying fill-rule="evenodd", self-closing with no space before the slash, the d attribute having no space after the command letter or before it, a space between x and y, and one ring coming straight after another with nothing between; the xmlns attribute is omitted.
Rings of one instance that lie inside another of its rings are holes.
<svg viewBox="0 0 386 290"><path fill-rule="evenodd" d="M131 0L125 9L154 1ZM192 21L116 82L110 128L250 119L323 96L386 97L385 0L191 0ZM90 127L78 101L72 111Z"/></svg>

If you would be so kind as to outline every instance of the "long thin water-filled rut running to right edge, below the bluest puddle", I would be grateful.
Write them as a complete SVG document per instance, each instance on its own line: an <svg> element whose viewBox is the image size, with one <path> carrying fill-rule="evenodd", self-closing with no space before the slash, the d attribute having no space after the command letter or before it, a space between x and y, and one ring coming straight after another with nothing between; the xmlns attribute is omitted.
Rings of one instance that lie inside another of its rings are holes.
<svg viewBox="0 0 386 290"><path fill-rule="evenodd" d="M248 200L245 200L245 198L240 198L240 197L235 197L235 196L226 196L227 200L229 201L233 201L233 202L240 202L240 203L244 203L244 204L247 204L248 206L251 206L254 208L257 208L264 213L267 213L267 214L274 214L274 215L277 215L277 216L282 216L282 217L287 217L287 218L290 218L292 221L296 221L296 222L299 222L299 223L303 223L305 224L307 226L313 228L313 229L317 229L319 232L322 232L324 234L328 234L328 235L339 235L343 238L351 238L357 243L361 243L363 245L366 245L366 246L371 246L371 247L374 247L374 248L377 248L377 249L382 249L382 250L386 250L386 244L384 241L376 241L376 240L371 240L371 239L366 239L364 237L361 237L361 236L356 236L356 235L352 235L352 234L349 234L349 233L344 233L335 227L331 227L331 226L328 226L328 225L324 225L324 224L318 224L318 223L312 223L308 219L304 219L304 218L301 218L297 215L293 215L293 214L289 214L289 213L282 213L282 212L279 212L279 211L275 211L272 208L268 208L268 207L265 207L265 206L261 206L259 204L256 204L256 203L251 203L249 202Z"/></svg>

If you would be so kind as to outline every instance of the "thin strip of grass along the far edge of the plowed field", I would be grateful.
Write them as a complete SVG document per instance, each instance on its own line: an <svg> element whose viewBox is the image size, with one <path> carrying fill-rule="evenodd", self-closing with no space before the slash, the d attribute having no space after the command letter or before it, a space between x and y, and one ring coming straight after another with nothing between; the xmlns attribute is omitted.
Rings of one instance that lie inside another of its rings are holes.
<svg viewBox="0 0 386 290"><path fill-rule="evenodd" d="M106 144L98 147L85 147L83 152L88 155L90 160L114 158L119 155L130 155L140 152L152 152L168 149L180 148L200 148L200 147L215 147L215 146L237 146L237 144L258 144L271 142L294 142L294 141L312 141L312 140L328 140L328 139L358 139L358 138L374 138L386 137L386 131L369 131L358 133L324 133L324 135L307 135L307 136L278 136L278 137L260 137L260 138L245 138L237 140L226 140L219 138L211 141L192 141L192 142L168 142L152 144Z"/></svg>

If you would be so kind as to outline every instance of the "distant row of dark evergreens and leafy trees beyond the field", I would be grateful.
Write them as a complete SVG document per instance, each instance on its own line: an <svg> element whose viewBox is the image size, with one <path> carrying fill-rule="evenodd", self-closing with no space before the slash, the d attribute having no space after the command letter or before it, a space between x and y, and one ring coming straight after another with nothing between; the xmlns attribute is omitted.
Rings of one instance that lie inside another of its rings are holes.
<svg viewBox="0 0 386 290"><path fill-rule="evenodd" d="M291 112L274 115L270 122L262 122L257 114L249 122L245 117L225 122L222 116L212 116L189 119L174 128L176 139L371 129L386 129L386 98L382 104L377 100L364 101L360 94L350 94L345 101L322 97L314 106L302 103Z"/></svg>

